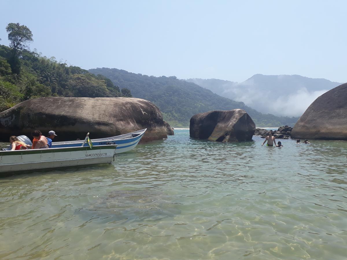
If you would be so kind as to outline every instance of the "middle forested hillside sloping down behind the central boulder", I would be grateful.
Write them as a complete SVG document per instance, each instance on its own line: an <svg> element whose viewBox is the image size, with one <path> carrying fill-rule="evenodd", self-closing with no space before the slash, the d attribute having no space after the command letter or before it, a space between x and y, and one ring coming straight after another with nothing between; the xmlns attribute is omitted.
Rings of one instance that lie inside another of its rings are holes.
<svg viewBox="0 0 347 260"><path fill-rule="evenodd" d="M211 90L177 79L175 76L154 77L109 68L90 69L89 72L104 75L116 86L130 89L134 97L153 102L162 111L164 120L173 127L189 127L189 120L197 113L237 108L244 109L251 115L257 127L276 127L286 124L293 126L298 120L298 118L262 114L243 102L218 96Z"/></svg>

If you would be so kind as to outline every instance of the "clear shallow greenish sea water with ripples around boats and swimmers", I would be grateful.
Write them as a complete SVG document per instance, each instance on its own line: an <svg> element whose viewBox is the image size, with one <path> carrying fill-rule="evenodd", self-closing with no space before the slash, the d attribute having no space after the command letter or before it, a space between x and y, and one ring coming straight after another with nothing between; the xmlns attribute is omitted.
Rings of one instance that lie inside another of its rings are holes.
<svg viewBox="0 0 347 260"><path fill-rule="evenodd" d="M138 145L0 179L1 259L346 259L347 142Z"/></svg>

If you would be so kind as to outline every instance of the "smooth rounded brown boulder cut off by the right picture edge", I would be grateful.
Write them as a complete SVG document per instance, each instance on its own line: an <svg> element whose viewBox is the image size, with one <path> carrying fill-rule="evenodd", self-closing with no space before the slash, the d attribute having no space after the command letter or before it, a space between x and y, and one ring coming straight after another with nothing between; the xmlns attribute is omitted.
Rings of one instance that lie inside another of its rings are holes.
<svg viewBox="0 0 347 260"><path fill-rule="evenodd" d="M347 83L318 97L294 125L291 138L347 140Z"/></svg>

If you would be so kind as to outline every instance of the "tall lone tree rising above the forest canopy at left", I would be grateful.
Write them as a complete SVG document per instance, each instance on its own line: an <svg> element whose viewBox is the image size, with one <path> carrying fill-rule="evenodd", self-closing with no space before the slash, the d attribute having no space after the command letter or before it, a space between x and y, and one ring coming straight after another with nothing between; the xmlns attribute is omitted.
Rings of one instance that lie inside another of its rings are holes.
<svg viewBox="0 0 347 260"><path fill-rule="evenodd" d="M29 42L33 41L33 34L25 25L19 23L9 23L6 26L8 32L8 40L13 50L12 57L9 60L13 73L19 74L20 62L18 59L18 51L28 47Z"/></svg>

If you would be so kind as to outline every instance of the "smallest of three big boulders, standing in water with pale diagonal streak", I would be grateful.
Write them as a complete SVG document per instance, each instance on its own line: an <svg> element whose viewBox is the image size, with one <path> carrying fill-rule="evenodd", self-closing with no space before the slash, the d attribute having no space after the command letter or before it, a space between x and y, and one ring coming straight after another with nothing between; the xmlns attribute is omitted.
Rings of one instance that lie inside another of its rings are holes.
<svg viewBox="0 0 347 260"><path fill-rule="evenodd" d="M254 131L255 124L243 109L196 114L189 126L192 138L219 142L252 140Z"/></svg>

